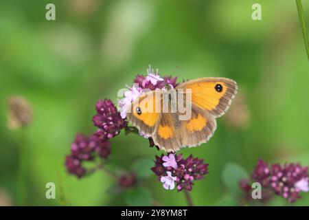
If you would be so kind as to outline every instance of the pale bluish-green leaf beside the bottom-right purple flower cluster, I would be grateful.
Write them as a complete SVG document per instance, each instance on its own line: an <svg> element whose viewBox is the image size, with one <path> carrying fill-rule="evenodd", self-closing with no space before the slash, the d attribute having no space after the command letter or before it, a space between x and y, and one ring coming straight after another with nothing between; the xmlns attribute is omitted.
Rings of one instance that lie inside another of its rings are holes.
<svg viewBox="0 0 309 220"><path fill-rule="evenodd" d="M237 197L241 194L239 181L249 179L249 174L238 164L227 164L223 170L222 181L231 192L231 195Z"/></svg>

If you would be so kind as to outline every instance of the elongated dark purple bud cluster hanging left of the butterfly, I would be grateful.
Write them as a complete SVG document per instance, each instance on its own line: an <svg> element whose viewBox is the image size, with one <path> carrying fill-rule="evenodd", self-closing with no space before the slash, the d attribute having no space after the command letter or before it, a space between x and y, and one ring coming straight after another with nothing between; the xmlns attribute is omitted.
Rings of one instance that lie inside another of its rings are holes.
<svg viewBox="0 0 309 220"><path fill-rule="evenodd" d="M120 117L111 100L98 100L95 108L97 114L93 116L93 124L98 126L98 131L89 137L77 135L71 144L71 153L65 159L68 173L79 178L87 173L87 168L82 165L84 161L95 162L97 155L101 159L107 159L111 153L109 140L126 126L126 120Z"/></svg>

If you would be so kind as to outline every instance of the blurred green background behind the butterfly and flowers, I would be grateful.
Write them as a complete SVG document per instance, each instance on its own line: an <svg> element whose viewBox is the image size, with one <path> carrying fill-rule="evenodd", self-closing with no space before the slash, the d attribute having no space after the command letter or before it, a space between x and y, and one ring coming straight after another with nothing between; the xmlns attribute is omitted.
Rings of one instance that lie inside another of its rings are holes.
<svg viewBox="0 0 309 220"><path fill-rule="evenodd" d="M56 5L56 21L46 21L47 3ZM253 3L261 3L262 21L251 19ZM309 2L303 4L308 24ZM68 175L65 155L76 133L95 131L96 100L117 101L117 91L146 74L149 64L162 76L229 77L240 87L214 137L181 151L209 163L209 174L192 190L196 205L229 199L222 183L229 163L248 172L260 157L309 165L309 68L295 1L1 1L2 204L19 201L22 146L29 161L27 205L60 206L60 195L73 206L126 205L124 194L106 193L114 184L106 174ZM7 127L12 95L32 104L34 120L25 131ZM123 168L159 155L148 140L124 132L111 150L111 161ZM56 199L45 198L49 181L56 184ZM182 192L164 190L155 175L143 186L163 205L186 205ZM309 195L302 195L296 205L309 204ZM278 197L271 204L288 203Z"/></svg>

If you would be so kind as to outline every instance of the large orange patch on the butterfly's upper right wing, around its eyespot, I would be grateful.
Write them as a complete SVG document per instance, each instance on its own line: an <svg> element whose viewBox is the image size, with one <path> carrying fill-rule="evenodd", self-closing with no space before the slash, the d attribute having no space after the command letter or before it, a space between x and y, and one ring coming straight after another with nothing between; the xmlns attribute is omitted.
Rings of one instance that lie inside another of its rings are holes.
<svg viewBox="0 0 309 220"><path fill-rule="evenodd" d="M216 91L216 85L222 85L222 91ZM207 83L194 83L188 85L187 89L192 89L192 103L201 109L214 110L219 102L220 98L225 95L227 91L227 85L222 82L207 82Z"/></svg>

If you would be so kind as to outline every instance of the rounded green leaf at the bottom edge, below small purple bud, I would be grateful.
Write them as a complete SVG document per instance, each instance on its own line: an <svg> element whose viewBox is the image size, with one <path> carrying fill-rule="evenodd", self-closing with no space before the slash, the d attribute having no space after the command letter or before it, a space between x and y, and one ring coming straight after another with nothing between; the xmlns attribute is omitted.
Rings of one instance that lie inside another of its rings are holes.
<svg viewBox="0 0 309 220"><path fill-rule="evenodd" d="M126 194L126 203L128 206L150 206L151 195L149 190L142 187L128 190Z"/></svg>

